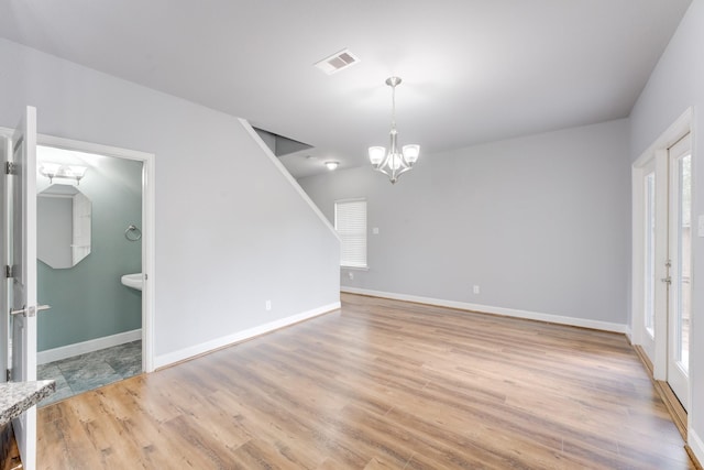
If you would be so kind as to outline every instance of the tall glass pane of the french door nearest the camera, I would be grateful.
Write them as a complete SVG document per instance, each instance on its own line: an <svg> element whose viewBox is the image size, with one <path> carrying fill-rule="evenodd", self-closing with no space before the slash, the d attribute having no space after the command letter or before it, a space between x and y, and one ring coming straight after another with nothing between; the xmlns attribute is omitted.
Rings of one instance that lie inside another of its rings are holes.
<svg viewBox="0 0 704 470"><path fill-rule="evenodd" d="M678 360L686 371L690 362L690 314L692 305L692 155L684 155L678 162L678 298L676 336Z"/></svg>

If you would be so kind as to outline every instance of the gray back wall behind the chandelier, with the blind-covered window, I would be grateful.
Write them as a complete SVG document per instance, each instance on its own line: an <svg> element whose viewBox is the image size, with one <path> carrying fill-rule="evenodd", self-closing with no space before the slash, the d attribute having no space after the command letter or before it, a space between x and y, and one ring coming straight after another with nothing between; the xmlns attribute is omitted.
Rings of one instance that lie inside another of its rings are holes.
<svg viewBox="0 0 704 470"><path fill-rule="evenodd" d="M330 220L369 201L370 269L344 286L623 325L628 181L619 120L426 153L396 185L366 166L300 184Z"/></svg>

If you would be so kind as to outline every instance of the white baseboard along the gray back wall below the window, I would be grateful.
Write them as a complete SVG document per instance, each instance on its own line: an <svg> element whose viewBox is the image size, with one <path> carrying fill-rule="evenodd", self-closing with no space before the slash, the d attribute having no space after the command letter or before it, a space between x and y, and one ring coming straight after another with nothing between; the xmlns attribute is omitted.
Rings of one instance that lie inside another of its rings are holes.
<svg viewBox="0 0 704 470"><path fill-rule="evenodd" d="M560 315L541 314L538 311L517 310L514 308L492 307L490 305L469 304L465 302L443 300L440 298L419 297L416 295L394 294L391 292L370 291L365 288L341 286L340 291L350 294L370 295L372 297L393 298L395 300L415 302L418 304L437 305L439 307L458 308L460 310L480 311L483 314L503 315L505 317L527 318L531 320L547 321L551 324L569 325L581 328L591 328L604 331L623 332L627 331L627 325L613 324L608 321L588 320L585 318L563 317Z"/></svg>

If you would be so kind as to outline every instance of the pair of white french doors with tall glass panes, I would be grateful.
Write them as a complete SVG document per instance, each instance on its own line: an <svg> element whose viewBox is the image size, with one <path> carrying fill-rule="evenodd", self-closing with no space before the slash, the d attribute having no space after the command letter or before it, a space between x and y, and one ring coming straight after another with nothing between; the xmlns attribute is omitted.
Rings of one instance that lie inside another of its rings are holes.
<svg viewBox="0 0 704 470"><path fill-rule="evenodd" d="M634 179L640 217L634 230L636 340L689 408L692 276L692 139L685 133L654 152ZM639 201L639 204L638 204ZM639 252L638 252L639 250Z"/></svg>

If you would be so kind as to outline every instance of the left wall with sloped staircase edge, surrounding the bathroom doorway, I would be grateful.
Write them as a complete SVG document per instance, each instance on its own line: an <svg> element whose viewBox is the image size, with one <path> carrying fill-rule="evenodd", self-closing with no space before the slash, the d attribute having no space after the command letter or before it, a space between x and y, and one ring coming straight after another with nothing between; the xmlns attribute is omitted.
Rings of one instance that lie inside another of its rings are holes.
<svg viewBox="0 0 704 470"><path fill-rule="evenodd" d="M40 133L156 154L157 364L339 302L337 237L237 118L4 40L0 63L0 125L31 105Z"/></svg>

